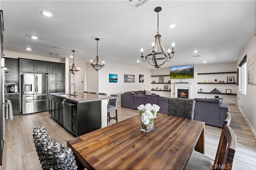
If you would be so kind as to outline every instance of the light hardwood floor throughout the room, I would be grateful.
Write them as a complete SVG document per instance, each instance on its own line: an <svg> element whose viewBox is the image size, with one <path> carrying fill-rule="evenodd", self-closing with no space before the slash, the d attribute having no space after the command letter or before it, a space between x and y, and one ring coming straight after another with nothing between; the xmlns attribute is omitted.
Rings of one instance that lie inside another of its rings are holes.
<svg viewBox="0 0 256 170"><path fill-rule="evenodd" d="M234 157L234 170L256 169L255 138L250 128L244 121L236 105L228 105L232 119L230 126L236 133L237 149ZM114 115L114 112L111 114ZM122 121L134 115L138 111L121 107L118 104L118 121ZM116 120L111 120L110 124ZM48 112L15 116L12 121L6 121L6 139L4 142L4 158L1 170L40 170L41 165L36 154L32 138L33 128L44 125L50 137L63 145L73 137L50 118ZM139 126L139 125L138 125ZM215 158L221 129L206 125L205 154ZM157 167L155 168L157 169Z"/></svg>

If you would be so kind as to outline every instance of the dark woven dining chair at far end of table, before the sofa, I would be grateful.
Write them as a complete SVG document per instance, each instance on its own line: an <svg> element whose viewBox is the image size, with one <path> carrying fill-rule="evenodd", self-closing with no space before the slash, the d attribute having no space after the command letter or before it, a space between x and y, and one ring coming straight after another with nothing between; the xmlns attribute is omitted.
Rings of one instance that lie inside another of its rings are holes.
<svg viewBox="0 0 256 170"><path fill-rule="evenodd" d="M168 115L194 119L195 100L184 98L168 99Z"/></svg>

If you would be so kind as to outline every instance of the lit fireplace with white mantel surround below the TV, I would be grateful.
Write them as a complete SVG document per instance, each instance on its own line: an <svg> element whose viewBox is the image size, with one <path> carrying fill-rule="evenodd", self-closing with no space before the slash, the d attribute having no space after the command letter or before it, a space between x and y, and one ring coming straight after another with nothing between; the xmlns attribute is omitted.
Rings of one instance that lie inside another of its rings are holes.
<svg viewBox="0 0 256 170"><path fill-rule="evenodd" d="M174 97L191 99L191 83L174 83Z"/></svg>

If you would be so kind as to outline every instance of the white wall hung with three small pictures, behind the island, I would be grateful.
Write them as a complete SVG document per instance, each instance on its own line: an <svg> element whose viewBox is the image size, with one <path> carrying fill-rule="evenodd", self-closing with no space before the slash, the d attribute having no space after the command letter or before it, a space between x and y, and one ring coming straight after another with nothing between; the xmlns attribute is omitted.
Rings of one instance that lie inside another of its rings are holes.
<svg viewBox="0 0 256 170"><path fill-rule="evenodd" d="M105 61L104 68L101 68L98 72L90 66L90 63L86 63L86 67L90 68L90 70L86 70L86 91L106 93L108 96L111 94L120 96L120 94L128 91L151 89L151 71L149 69L107 61ZM109 74L118 74L118 82L110 83ZM125 83L124 74L135 75L135 82ZM143 83L139 82L139 74L144 75ZM120 98L118 102L120 102Z"/></svg>

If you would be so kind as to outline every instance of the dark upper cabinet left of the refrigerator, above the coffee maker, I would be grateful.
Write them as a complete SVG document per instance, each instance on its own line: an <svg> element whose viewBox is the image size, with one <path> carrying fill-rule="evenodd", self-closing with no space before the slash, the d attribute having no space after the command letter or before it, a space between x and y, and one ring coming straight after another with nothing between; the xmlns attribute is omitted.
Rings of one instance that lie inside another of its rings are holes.
<svg viewBox="0 0 256 170"><path fill-rule="evenodd" d="M5 67L9 72L4 74L5 82L19 82L19 61L18 59L5 58Z"/></svg>

